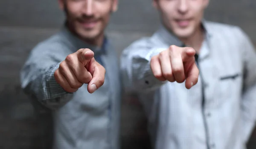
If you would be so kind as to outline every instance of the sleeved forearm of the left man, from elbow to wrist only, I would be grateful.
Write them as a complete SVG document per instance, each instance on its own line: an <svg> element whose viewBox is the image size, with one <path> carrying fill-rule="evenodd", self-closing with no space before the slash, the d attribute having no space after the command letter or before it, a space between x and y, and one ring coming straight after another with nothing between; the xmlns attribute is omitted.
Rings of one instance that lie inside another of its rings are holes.
<svg viewBox="0 0 256 149"><path fill-rule="evenodd" d="M58 66L59 63L54 63L42 69L26 64L21 71L24 92L51 109L63 106L73 95L62 89L55 81L54 72Z"/></svg>

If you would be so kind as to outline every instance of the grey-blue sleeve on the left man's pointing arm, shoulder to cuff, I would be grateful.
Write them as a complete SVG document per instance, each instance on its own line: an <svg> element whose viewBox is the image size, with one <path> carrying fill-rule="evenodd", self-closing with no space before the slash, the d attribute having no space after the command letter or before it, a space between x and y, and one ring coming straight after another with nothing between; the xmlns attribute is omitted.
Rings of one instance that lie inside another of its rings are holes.
<svg viewBox="0 0 256 149"><path fill-rule="evenodd" d="M63 106L73 96L55 81L54 72L62 61L57 56L60 54L55 53L56 49L42 45L36 47L20 72L24 92L50 109Z"/></svg>

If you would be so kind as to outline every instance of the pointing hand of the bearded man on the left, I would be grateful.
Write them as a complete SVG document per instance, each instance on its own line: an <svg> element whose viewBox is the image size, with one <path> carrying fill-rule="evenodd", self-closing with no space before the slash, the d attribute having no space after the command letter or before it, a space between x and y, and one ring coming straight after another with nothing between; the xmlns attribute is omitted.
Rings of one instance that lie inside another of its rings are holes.
<svg viewBox="0 0 256 149"><path fill-rule="evenodd" d="M56 82L66 92L76 92L84 83L88 83L89 93L95 92L103 85L106 70L93 56L90 49L79 49L67 55L54 73Z"/></svg>

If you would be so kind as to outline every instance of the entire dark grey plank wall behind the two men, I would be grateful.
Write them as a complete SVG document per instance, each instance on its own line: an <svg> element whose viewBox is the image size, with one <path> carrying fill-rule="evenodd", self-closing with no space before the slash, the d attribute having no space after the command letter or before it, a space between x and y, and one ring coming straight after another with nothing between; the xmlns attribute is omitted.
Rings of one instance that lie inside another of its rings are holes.
<svg viewBox="0 0 256 149"><path fill-rule="evenodd" d="M211 0L206 18L241 26L256 44L255 14L255 0ZM57 32L63 19L57 0L0 0L0 149L43 149L45 130L20 90L19 71L29 51ZM120 53L132 41L154 32L158 21L151 0L120 0L108 33ZM146 120L136 101L123 100L121 120L123 149L148 148ZM256 133L249 149L255 146Z"/></svg>

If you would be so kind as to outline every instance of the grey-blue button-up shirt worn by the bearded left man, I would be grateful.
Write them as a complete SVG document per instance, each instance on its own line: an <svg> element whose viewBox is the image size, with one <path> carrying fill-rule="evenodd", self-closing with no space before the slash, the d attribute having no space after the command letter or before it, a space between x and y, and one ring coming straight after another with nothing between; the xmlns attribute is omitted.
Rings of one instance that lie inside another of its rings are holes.
<svg viewBox="0 0 256 149"><path fill-rule="evenodd" d="M119 64L115 50L105 41L105 50L96 48L64 27L39 43L21 70L24 91L52 109L54 149L119 149ZM61 61L81 48L93 50L106 69L104 85L93 94L87 92L87 84L75 93L67 93L54 79Z"/></svg>

